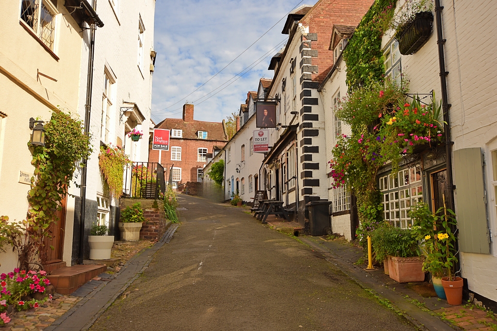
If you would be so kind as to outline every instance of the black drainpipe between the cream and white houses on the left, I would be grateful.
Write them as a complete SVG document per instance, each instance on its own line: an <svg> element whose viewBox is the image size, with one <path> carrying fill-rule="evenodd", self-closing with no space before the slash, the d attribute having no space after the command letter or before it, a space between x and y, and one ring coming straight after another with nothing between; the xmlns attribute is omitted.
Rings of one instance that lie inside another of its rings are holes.
<svg viewBox="0 0 497 331"><path fill-rule="evenodd" d="M93 10L96 10L96 0L92 3ZM91 90L93 87L93 60L95 55L95 23L90 24L90 35L88 41L88 73L86 81L86 103L84 105L84 134L89 134L90 131L90 113L91 113ZM80 209L80 252L79 252L79 263L83 264L83 253L84 253L84 217L85 217L85 207L86 207L86 166L88 164L87 159L83 159L83 167L81 170L81 209Z"/></svg>

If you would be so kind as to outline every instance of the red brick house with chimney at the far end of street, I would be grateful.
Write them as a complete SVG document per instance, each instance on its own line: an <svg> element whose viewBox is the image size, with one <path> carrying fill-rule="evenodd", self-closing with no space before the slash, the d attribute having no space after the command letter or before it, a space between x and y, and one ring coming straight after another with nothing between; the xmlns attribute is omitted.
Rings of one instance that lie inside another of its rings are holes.
<svg viewBox="0 0 497 331"><path fill-rule="evenodd" d="M161 164L171 165L172 180L178 185L197 182L207 164L207 154L214 146L223 147L228 142L222 122L193 120L193 105L183 105L182 119L165 119L156 129L170 130L169 150L162 151ZM159 162L159 151L149 150L149 162Z"/></svg>

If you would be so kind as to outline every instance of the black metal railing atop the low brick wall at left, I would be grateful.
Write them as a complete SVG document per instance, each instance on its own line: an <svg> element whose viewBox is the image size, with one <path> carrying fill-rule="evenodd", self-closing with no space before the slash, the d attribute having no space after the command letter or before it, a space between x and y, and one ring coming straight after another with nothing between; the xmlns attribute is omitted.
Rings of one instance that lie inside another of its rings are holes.
<svg viewBox="0 0 497 331"><path fill-rule="evenodd" d="M164 166L158 162L133 162L129 165L124 172L123 197L159 199L159 194L166 192L166 183L172 184L172 165Z"/></svg>

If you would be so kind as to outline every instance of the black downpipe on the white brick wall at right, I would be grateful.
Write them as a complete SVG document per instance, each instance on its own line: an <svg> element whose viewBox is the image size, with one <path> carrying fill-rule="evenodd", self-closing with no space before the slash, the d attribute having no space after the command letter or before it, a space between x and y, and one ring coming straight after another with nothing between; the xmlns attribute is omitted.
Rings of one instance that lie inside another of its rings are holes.
<svg viewBox="0 0 497 331"><path fill-rule="evenodd" d="M442 110L443 110L443 121L444 131L445 131L445 160L447 163L447 179L445 186L445 203L448 209L454 211L454 182L452 178L452 145L454 142L450 135L450 118L449 109L452 106L448 101L447 96L447 75L448 71L445 71L445 56L444 56L444 44L446 39L443 39L442 31L442 10L443 6L440 4L440 0L435 0L435 17L436 17L436 34L437 34L437 45L438 45L438 63L440 66L440 85L442 89ZM457 228L451 229L457 238ZM459 253L459 244L456 240L454 243L454 250ZM457 265L454 266L454 270L460 270L460 259L458 259ZM457 271L456 271L457 272Z"/></svg>

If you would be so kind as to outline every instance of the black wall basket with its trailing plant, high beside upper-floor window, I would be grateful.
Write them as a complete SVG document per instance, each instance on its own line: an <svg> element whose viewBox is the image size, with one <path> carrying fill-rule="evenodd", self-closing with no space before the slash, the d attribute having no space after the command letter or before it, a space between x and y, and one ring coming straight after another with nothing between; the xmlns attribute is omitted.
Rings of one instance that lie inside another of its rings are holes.
<svg viewBox="0 0 497 331"><path fill-rule="evenodd" d="M433 32L432 0L407 0L392 20L395 40L402 55L417 52Z"/></svg>

